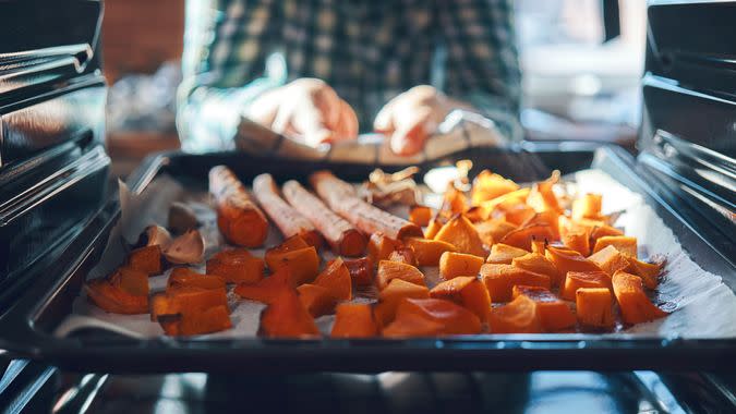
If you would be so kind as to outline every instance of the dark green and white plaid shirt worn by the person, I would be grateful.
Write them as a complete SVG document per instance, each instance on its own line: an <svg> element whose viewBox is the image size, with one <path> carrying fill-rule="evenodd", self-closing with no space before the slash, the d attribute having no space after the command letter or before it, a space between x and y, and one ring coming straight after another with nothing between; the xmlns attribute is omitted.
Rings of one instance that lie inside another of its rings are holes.
<svg viewBox="0 0 736 414"><path fill-rule="evenodd" d="M333 86L361 132L430 84L518 131L511 0L188 0L178 125L190 151L230 149L242 110L299 77Z"/></svg>

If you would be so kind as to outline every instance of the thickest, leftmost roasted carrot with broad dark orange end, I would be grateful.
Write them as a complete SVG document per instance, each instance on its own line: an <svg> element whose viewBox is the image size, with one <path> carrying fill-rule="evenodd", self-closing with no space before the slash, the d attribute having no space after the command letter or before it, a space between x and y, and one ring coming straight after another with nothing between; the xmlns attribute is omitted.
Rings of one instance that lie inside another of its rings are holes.
<svg viewBox="0 0 736 414"><path fill-rule="evenodd" d="M209 192L217 210L217 227L225 239L244 247L257 247L268 235L268 220L236 174L225 166L209 170Z"/></svg>

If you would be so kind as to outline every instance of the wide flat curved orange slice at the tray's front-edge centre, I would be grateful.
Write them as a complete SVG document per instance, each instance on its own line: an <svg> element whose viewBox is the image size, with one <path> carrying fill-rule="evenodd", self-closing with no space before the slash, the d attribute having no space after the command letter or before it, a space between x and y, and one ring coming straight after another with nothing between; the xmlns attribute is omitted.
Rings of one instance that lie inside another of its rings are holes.
<svg viewBox="0 0 736 414"><path fill-rule="evenodd" d="M393 334L395 324L402 319L419 316L438 322L442 326L438 334L472 334L481 331L481 320L472 312L450 301L441 299L402 299L396 309L396 318L384 329L385 336Z"/></svg>

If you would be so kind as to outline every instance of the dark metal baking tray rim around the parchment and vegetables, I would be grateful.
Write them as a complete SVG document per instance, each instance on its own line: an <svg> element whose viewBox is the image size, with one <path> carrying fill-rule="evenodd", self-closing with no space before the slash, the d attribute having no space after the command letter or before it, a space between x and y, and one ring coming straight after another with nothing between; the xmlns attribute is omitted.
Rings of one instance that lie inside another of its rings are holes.
<svg viewBox="0 0 736 414"><path fill-rule="evenodd" d="M430 168L471 159L512 180L545 178L548 167L562 173L596 168L641 194L703 269L722 275L733 290L736 271L709 244L709 234L684 222L678 208L659 194L652 174L620 148L591 149L574 144L529 145L515 149L473 149L419 166ZM167 173L184 185L204 190L207 171L227 165L244 181L264 171L277 181L304 179L330 168L340 178L361 181L376 166L274 159L238 153L160 154L148 158L128 180L134 192ZM386 170L396 170L387 167ZM480 170L480 168L479 168ZM285 339L131 339L99 329L70 338L51 334L71 312L87 272L99 260L120 216L110 203L85 224L81 236L55 265L0 317L0 349L13 357L44 360L72 370L106 373L171 372L384 372L384 370L530 370L530 369L731 369L736 340L611 338L599 334L479 334L443 339L285 340ZM707 228L703 228L707 229ZM716 233L715 233L716 234ZM734 316L736 322L736 315Z"/></svg>

